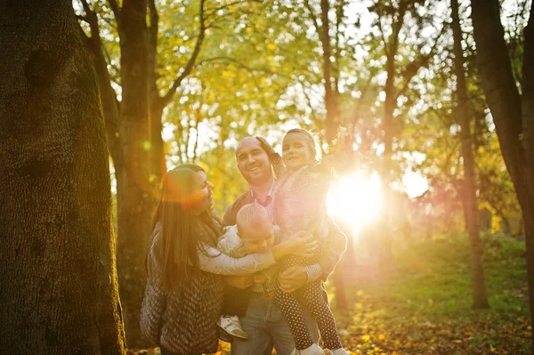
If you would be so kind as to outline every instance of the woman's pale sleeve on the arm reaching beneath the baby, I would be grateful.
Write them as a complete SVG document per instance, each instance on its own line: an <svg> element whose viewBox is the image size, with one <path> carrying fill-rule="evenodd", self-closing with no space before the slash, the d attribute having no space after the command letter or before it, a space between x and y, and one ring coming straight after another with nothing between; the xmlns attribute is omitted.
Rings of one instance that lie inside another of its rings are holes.
<svg viewBox="0 0 534 355"><path fill-rule="evenodd" d="M265 253L248 254L242 258L232 258L213 246L198 247L200 270L220 275L245 275L263 270L275 263L271 250Z"/></svg>

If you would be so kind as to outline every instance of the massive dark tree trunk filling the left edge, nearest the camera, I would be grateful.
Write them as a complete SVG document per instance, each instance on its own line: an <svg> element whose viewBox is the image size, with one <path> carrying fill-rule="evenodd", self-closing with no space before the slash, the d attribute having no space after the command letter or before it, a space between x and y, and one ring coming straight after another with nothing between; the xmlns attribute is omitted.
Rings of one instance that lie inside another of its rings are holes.
<svg viewBox="0 0 534 355"><path fill-rule="evenodd" d="M69 1L0 4L0 349L125 352L106 133Z"/></svg>

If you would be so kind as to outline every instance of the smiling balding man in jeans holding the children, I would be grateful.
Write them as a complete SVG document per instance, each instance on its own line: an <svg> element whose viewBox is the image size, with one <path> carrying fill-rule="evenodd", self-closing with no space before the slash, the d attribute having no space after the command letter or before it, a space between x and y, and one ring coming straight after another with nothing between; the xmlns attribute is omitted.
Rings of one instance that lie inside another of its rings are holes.
<svg viewBox="0 0 534 355"><path fill-rule="evenodd" d="M248 190L226 210L223 225L236 224L236 216L242 206L257 203L264 206L272 218L272 193L276 184L272 167L279 171L281 159L279 155L262 137L247 137L239 141L236 149L239 173L248 182ZM325 281L328 275L341 260L346 247L346 238L332 221L328 224L331 243L328 250L323 250L325 257L320 263L310 266L294 266L279 273L279 284L284 292L291 293L306 282L321 278ZM229 284L240 288L252 286L251 276L229 277ZM252 296L247 307L247 314L241 317L243 330L248 334L247 341L234 340L231 343L232 355L270 355L274 347L279 355L289 355L295 348L295 341L286 320L275 303L271 289L253 287ZM325 293L326 294L326 293ZM307 314L312 339L319 340L316 322Z"/></svg>

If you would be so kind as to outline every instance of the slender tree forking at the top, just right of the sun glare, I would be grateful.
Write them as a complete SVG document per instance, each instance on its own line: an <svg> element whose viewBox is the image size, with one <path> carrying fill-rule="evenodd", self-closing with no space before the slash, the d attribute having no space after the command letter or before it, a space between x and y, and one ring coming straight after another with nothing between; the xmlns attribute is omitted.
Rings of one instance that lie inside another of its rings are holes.
<svg viewBox="0 0 534 355"><path fill-rule="evenodd" d="M396 114L399 101L409 91L409 85L417 76L419 69L433 59L444 28L443 26L437 28L436 25L440 24L433 22L433 16L428 10L419 12L422 3L424 2L419 0L376 0L369 7L376 13L375 26L385 56L384 113L381 119L384 154L380 169L385 201L392 200L392 157L395 150L393 141L399 137L402 127L400 117ZM423 28L429 24L436 26L435 36L423 38ZM409 38L413 44L408 41ZM386 269L391 264L392 258L392 230L389 230L392 214L391 204L386 204L378 255L379 263Z"/></svg>

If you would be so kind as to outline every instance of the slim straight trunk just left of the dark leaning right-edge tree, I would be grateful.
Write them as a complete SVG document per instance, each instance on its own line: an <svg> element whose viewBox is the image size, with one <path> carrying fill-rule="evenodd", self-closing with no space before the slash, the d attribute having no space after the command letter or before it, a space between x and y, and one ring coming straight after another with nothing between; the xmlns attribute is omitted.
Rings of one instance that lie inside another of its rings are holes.
<svg viewBox="0 0 534 355"><path fill-rule="evenodd" d="M478 204L476 201L476 177L474 173L473 140L471 135L471 106L465 85L462 28L458 17L458 2L451 0L452 32L454 36L455 70L457 76L457 117L462 128L462 156L464 157L465 227L471 246L471 272L473 277L473 308L488 308L488 295L482 266L482 244L479 232Z"/></svg>

